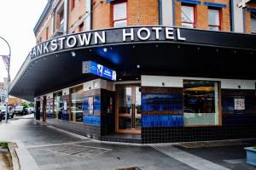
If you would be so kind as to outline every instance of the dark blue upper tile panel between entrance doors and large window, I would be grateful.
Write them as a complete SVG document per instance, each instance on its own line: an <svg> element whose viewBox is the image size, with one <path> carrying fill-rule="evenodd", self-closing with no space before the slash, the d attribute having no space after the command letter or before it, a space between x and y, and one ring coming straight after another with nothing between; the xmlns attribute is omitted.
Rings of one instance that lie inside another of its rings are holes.
<svg viewBox="0 0 256 170"><path fill-rule="evenodd" d="M143 111L183 111L183 96L178 94L143 94Z"/></svg>

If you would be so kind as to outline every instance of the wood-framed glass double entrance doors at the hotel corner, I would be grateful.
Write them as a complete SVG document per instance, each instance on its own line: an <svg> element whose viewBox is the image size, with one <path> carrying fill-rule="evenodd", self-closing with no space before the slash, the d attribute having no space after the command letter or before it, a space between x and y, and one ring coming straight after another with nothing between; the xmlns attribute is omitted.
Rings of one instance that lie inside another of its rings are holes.
<svg viewBox="0 0 256 170"><path fill-rule="evenodd" d="M117 85L117 133L141 133L142 94L139 84Z"/></svg>

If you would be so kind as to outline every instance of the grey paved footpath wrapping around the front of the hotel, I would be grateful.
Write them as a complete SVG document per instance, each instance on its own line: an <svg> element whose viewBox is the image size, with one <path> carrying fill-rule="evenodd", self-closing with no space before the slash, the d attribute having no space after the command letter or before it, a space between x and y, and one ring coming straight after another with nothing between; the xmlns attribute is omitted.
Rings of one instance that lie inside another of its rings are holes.
<svg viewBox="0 0 256 170"><path fill-rule="evenodd" d="M16 116L7 124L0 122L0 141L9 140L24 144L42 170L256 169L247 166L243 150L252 140L201 148L188 144L109 144L76 138L33 120L33 115Z"/></svg>

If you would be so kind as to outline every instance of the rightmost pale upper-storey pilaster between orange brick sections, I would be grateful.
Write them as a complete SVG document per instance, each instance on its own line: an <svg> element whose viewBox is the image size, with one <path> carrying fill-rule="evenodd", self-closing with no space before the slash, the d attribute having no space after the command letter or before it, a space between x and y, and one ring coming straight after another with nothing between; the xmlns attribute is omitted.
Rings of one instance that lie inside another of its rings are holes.
<svg viewBox="0 0 256 170"><path fill-rule="evenodd" d="M234 7L234 31L235 32L243 32L243 14L242 14L242 8L238 7L238 3L240 3L241 0L233 0L233 7Z"/></svg>

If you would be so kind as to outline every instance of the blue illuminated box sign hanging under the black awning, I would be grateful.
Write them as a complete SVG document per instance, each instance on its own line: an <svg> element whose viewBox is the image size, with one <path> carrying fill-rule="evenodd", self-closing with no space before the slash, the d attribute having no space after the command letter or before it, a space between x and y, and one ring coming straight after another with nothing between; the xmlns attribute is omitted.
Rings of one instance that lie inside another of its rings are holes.
<svg viewBox="0 0 256 170"><path fill-rule="evenodd" d="M83 62L83 73L90 73L108 80L116 81L116 71L108 69L108 67L100 65L93 61Z"/></svg>

